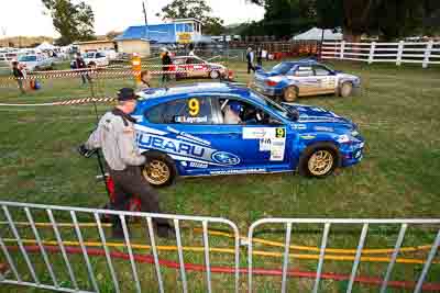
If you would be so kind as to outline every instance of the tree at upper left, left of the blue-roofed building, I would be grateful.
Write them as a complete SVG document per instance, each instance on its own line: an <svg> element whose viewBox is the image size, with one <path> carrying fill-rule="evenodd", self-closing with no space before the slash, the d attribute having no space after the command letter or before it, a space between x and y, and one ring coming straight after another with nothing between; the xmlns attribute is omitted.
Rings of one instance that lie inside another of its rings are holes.
<svg viewBox="0 0 440 293"><path fill-rule="evenodd" d="M94 38L95 14L85 2L77 4L70 0L42 0L55 30L61 34L58 44L68 45L75 41Z"/></svg>

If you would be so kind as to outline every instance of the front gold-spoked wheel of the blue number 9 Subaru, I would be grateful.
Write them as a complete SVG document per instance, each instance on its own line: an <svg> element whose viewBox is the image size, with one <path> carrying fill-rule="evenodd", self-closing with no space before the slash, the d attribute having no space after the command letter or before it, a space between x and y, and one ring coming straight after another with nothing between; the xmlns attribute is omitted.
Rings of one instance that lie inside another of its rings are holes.
<svg viewBox="0 0 440 293"><path fill-rule="evenodd" d="M322 167L317 167L320 160ZM318 143L306 148L299 158L298 171L305 177L324 178L339 166L339 153L331 143Z"/></svg>

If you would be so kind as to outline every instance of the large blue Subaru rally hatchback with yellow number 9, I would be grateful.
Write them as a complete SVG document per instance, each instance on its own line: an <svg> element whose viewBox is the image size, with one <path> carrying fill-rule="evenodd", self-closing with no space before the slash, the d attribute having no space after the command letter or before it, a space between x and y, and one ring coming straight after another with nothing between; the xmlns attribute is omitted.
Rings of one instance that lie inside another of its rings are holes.
<svg viewBox="0 0 440 293"><path fill-rule="evenodd" d="M233 83L147 89L133 117L136 144L156 187L177 176L298 170L326 177L361 161L364 139L351 121L317 106L278 104Z"/></svg>

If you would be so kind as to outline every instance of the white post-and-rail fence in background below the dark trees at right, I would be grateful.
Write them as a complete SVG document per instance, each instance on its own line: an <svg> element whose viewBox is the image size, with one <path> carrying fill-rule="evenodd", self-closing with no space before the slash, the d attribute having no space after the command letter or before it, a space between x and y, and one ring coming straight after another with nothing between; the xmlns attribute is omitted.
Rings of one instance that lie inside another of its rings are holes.
<svg viewBox="0 0 440 293"><path fill-rule="evenodd" d="M440 42L348 43L323 42L322 59L440 65Z"/></svg>

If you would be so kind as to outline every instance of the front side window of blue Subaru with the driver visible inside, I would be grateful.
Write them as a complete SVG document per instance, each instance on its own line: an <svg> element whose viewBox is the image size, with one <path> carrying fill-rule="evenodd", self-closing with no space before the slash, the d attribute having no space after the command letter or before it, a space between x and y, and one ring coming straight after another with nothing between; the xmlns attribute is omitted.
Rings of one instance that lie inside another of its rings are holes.
<svg viewBox="0 0 440 293"><path fill-rule="evenodd" d="M226 125L271 125L280 122L268 114L264 109L252 103L230 98L219 97L216 99L219 109L218 124Z"/></svg>

